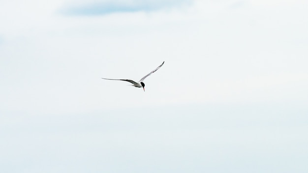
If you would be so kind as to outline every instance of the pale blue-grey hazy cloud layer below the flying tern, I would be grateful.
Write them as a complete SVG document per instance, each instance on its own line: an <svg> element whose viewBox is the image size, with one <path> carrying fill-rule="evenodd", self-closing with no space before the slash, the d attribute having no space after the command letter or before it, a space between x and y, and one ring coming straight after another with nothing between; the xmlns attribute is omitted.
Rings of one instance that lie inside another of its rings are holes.
<svg viewBox="0 0 308 173"><path fill-rule="evenodd" d="M5 173L306 173L308 109L298 108L182 105L2 114L0 166Z"/></svg>

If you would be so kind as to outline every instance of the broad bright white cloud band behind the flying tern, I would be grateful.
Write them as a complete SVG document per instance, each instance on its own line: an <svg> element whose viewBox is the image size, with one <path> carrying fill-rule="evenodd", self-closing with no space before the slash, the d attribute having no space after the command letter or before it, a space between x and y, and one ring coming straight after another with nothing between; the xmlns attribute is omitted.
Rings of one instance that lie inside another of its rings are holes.
<svg viewBox="0 0 308 173"><path fill-rule="evenodd" d="M284 91L300 87L307 95L304 77L291 80L307 74L307 24L298 19L305 11L261 13L247 2L230 8L236 2L195 1L186 9L95 17L60 15L63 1L43 9L41 2L28 4L24 17L12 16L28 25L17 22L1 30L1 73L7 74L1 87L11 88L3 92L2 103L8 110L20 105L30 112L61 113L100 105L300 100L300 93ZM163 60L164 67L147 79L146 93L100 80L138 80ZM285 76L290 80L283 82ZM151 99L130 102L134 94Z"/></svg>

